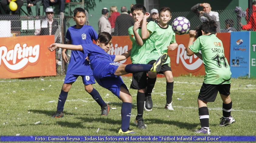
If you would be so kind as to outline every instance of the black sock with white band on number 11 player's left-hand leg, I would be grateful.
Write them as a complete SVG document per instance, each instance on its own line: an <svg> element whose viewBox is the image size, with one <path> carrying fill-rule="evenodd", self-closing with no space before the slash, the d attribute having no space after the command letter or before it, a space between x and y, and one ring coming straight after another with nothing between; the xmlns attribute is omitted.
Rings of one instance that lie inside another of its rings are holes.
<svg viewBox="0 0 256 143"><path fill-rule="evenodd" d="M207 107L200 107L198 109L200 124L203 129L209 129L209 111Z"/></svg>

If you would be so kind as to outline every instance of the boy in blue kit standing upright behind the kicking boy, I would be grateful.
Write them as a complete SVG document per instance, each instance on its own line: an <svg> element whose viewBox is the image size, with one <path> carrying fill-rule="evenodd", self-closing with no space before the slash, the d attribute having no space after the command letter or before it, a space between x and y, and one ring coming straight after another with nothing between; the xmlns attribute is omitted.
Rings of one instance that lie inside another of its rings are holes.
<svg viewBox="0 0 256 143"><path fill-rule="evenodd" d="M76 25L69 27L67 30L67 44L89 44L93 43L93 39L95 41L97 40L98 34L93 29L93 27L84 25L86 21L86 15L83 8L75 8L73 20L76 22ZM63 49L62 58L65 62L68 62L68 58L65 52L66 49ZM99 92L92 87L92 84L95 84L95 81L89 62L85 60L86 57L87 54L84 54L80 51L72 50L64 83L59 95L57 111L55 114L52 115L53 118L60 118L64 116L63 109L68 92L72 84L77 80L79 76L82 77L85 91L87 91L93 97L93 99L101 106L101 116L108 115L110 106L104 102Z"/></svg>

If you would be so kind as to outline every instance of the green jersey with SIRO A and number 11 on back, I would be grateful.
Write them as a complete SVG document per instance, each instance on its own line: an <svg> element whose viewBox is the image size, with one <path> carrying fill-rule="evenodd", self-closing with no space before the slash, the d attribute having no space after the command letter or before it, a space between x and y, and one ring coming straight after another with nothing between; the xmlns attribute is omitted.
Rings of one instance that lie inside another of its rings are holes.
<svg viewBox="0 0 256 143"><path fill-rule="evenodd" d="M204 83L206 84L230 84L231 71L224 55L222 41L215 34L202 35L189 46L195 53L202 52L205 68Z"/></svg>

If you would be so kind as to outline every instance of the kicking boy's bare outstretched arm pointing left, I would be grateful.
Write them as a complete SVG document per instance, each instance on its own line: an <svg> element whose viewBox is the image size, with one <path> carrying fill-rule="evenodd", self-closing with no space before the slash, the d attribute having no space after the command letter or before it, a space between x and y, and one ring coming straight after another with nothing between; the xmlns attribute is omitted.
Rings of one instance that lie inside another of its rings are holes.
<svg viewBox="0 0 256 143"><path fill-rule="evenodd" d="M63 49L69 49L69 50L77 50L77 51L83 51L82 45L70 45L70 44L59 44L59 43L53 43L51 44L48 49L49 51L53 52L57 48L63 48Z"/></svg>

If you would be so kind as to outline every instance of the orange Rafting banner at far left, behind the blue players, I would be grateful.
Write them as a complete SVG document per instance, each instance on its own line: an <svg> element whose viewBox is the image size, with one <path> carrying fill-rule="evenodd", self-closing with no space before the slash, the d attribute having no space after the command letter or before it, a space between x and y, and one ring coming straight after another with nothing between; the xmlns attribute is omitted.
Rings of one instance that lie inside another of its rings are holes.
<svg viewBox="0 0 256 143"><path fill-rule="evenodd" d="M0 38L0 78L56 75L54 35Z"/></svg>

